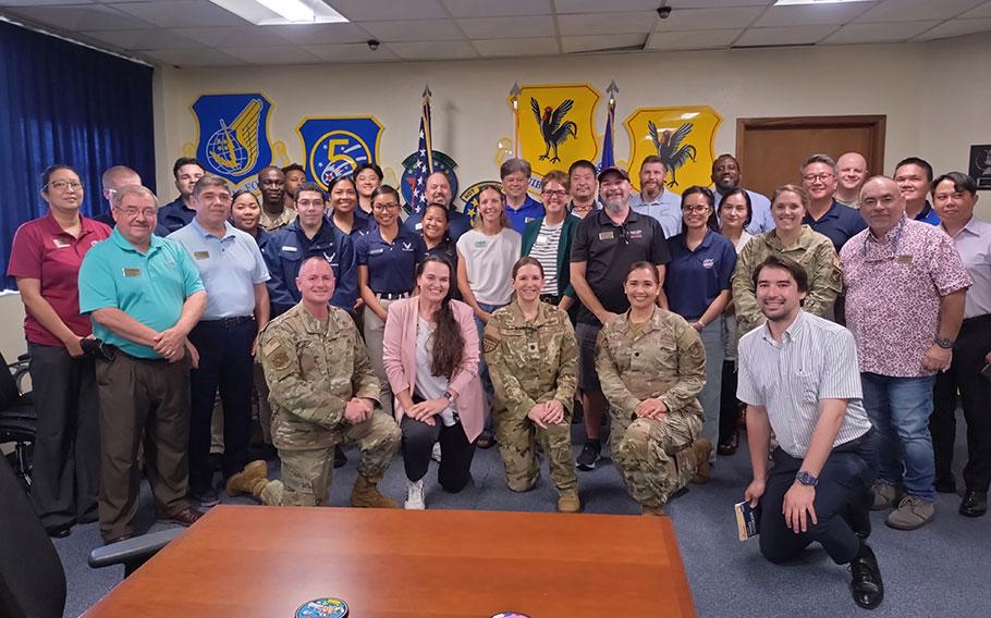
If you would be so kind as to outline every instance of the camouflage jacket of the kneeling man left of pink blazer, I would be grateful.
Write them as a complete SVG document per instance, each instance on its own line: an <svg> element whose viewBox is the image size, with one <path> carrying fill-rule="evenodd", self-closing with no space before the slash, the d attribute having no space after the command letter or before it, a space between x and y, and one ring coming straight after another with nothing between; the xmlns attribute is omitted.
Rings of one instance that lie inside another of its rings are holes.
<svg viewBox="0 0 991 618"><path fill-rule="evenodd" d="M379 381L351 316L330 307L327 322L298 304L268 323L258 347L272 406L272 443L283 450L341 442L352 397L378 401Z"/></svg>

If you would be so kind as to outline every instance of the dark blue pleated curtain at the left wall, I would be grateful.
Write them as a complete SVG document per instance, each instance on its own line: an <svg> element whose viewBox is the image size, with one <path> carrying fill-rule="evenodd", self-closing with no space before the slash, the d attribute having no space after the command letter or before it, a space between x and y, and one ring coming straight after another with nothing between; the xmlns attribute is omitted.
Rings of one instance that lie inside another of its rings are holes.
<svg viewBox="0 0 991 618"><path fill-rule="evenodd" d="M144 64L0 22L0 273L17 226L46 212L40 175L73 166L82 207L106 209L100 174L129 165L155 189L151 73ZM13 280L4 279L8 289Z"/></svg>

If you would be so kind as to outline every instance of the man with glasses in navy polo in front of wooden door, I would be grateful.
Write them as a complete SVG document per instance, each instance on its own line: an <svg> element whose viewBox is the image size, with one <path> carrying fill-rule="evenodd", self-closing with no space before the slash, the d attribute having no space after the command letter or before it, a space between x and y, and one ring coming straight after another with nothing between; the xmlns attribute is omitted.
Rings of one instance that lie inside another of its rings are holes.
<svg viewBox="0 0 991 618"><path fill-rule="evenodd" d="M867 223L855 209L835 200L837 182L836 163L827 154L812 154L802 165L802 186L809 194L803 223L832 240L839 252Z"/></svg>

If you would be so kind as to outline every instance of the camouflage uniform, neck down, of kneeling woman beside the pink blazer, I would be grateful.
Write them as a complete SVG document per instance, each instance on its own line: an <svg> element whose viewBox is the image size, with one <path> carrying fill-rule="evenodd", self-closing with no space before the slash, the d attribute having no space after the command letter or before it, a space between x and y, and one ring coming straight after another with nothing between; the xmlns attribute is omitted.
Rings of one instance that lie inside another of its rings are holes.
<svg viewBox="0 0 991 618"><path fill-rule="evenodd" d="M571 418L578 347L567 312L539 302L537 317L527 321L512 302L489 318L482 347L495 391L495 442L506 484L526 492L537 483L536 437L558 487L558 510L577 512L582 503L572 464ZM555 409L563 412L558 422L538 420Z"/></svg>

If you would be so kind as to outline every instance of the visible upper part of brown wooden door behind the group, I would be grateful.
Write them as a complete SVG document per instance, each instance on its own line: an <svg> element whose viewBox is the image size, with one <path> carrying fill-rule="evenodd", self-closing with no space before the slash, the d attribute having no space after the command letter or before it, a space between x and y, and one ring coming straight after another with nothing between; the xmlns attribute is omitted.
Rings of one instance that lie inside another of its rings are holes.
<svg viewBox="0 0 991 618"><path fill-rule="evenodd" d="M868 174L884 172L884 115L742 118L736 121L741 184L766 196L785 183L802 184L809 156L859 152Z"/></svg>

